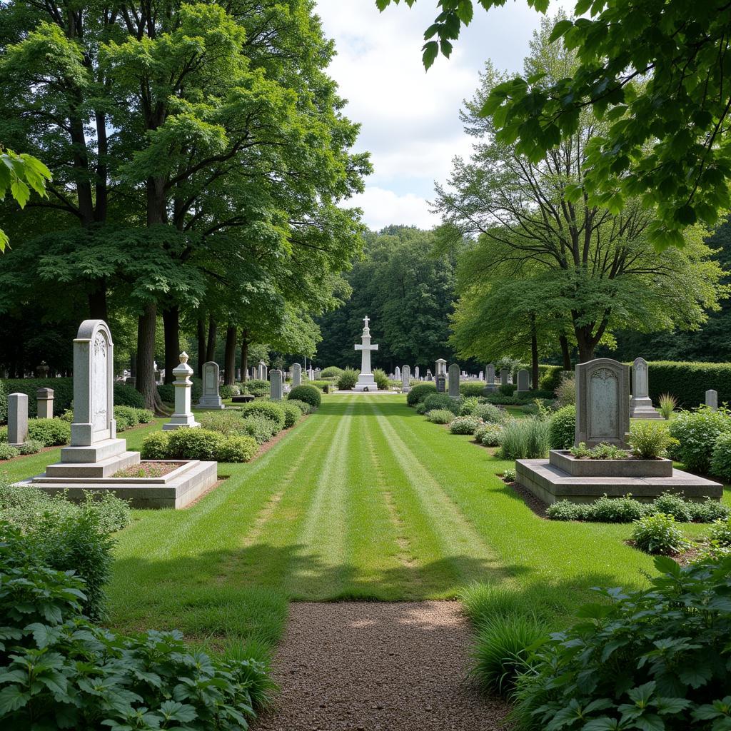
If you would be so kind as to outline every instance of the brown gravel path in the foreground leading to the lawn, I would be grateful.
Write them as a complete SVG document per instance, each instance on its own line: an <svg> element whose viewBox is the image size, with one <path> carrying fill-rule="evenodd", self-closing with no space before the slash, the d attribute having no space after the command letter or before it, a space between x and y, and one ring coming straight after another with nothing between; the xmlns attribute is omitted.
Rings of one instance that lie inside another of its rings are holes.
<svg viewBox="0 0 731 731"><path fill-rule="evenodd" d="M458 602L293 603L281 694L256 731L491 731L507 708L466 680Z"/></svg>

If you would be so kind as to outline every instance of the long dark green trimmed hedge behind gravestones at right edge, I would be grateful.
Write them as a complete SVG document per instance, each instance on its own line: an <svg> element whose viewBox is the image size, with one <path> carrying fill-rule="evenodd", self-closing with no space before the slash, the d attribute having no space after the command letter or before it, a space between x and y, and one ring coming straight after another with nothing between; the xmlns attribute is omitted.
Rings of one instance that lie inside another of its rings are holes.
<svg viewBox="0 0 731 731"><path fill-rule="evenodd" d="M649 394L657 404L663 393L678 399L678 406L692 409L705 404L705 392L719 392L719 404L731 401L731 363L683 363L675 360L648 362Z"/></svg>

